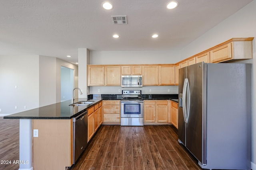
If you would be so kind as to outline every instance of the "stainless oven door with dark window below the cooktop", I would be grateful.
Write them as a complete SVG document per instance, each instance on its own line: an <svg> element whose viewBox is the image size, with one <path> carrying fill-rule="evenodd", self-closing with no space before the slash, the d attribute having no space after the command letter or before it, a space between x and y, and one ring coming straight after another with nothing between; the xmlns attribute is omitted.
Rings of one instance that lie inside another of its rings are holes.
<svg viewBox="0 0 256 170"><path fill-rule="evenodd" d="M143 100L121 100L121 117L143 117Z"/></svg>

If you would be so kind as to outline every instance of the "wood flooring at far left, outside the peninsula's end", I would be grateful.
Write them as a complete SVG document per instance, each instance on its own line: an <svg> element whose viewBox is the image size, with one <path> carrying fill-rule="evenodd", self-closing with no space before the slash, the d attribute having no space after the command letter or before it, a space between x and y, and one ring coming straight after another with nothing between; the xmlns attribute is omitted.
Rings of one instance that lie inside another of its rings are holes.
<svg viewBox="0 0 256 170"><path fill-rule="evenodd" d="M20 120L3 119L2 117L0 117L0 161L11 161L11 164L1 164L0 162L0 170L19 169L19 164L13 164L14 160L19 160L19 138Z"/></svg>

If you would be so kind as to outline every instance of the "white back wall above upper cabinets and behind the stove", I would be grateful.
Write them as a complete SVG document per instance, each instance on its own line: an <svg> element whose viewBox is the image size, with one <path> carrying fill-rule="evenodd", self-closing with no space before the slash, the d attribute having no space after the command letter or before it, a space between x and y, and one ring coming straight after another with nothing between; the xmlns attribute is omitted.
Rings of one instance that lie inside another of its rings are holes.
<svg viewBox="0 0 256 170"><path fill-rule="evenodd" d="M91 51L90 53L90 64L175 64L178 61L180 61L180 51ZM90 94L121 94L122 90L127 89L130 88L90 87ZM142 90L142 94L178 94L178 86L144 86L132 89ZM152 92L149 92L150 89Z"/></svg>

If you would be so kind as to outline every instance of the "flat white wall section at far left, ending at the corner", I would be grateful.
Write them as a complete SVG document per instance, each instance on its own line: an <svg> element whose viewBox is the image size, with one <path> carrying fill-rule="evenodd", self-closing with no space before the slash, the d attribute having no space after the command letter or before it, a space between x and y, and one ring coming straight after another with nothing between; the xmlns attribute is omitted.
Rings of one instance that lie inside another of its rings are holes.
<svg viewBox="0 0 256 170"><path fill-rule="evenodd" d="M38 75L38 55L0 56L0 114L18 113L39 106Z"/></svg>

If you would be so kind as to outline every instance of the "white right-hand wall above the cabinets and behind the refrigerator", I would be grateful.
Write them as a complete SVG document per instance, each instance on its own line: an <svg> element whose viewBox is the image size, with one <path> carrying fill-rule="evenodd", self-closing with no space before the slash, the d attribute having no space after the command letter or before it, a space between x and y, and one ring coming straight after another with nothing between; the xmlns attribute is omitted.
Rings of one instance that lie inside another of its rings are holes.
<svg viewBox="0 0 256 170"><path fill-rule="evenodd" d="M214 45L233 37L256 38L256 0L216 25L198 39L181 50L186 59ZM242 63L252 63L252 169L256 170L256 44L253 40L253 59Z"/></svg>

